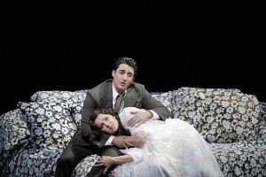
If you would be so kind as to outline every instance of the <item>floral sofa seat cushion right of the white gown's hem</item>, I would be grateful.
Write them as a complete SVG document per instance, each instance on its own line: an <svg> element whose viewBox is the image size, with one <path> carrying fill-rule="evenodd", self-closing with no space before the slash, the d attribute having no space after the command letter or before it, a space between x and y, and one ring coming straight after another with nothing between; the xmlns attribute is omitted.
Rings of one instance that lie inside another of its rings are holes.
<svg viewBox="0 0 266 177"><path fill-rule="evenodd" d="M225 177L266 176L266 142L211 143Z"/></svg>

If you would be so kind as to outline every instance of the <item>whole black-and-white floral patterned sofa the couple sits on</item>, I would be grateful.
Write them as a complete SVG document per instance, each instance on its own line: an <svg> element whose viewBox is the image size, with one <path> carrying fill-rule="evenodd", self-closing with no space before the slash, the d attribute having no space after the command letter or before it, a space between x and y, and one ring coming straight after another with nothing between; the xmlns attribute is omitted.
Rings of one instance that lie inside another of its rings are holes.
<svg viewBox="0 0 266 177"><path fill-rule="evenodd" d="M151 94L168 106L172 119L196 127L224 176L266 176L265 102L239 89L179 88ZM1 176L53 176L57 159L80 126L85 96L86 90L38 91L1 115ZM97 159L84 158L73 176L84 176Z"/></svg>

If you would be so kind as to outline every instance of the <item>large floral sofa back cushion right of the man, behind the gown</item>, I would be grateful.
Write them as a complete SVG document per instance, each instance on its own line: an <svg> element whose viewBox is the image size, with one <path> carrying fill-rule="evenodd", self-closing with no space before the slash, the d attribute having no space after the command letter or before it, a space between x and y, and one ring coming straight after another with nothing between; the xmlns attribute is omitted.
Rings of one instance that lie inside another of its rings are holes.
<svg viewBox="0 0 266 177"><path fill-rule="evenodd" d="M258 138L259 102L239 89L173 91L173 117L194 126L207 142L239 142Z"/></svg>

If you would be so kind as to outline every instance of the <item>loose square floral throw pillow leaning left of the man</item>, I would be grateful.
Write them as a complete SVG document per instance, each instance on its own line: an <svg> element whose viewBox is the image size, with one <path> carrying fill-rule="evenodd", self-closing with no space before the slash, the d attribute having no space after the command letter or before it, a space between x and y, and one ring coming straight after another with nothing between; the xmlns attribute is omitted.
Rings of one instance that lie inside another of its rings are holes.
<svg viewBox="0 0 266 177"><path fill-rule="evenodd" d="M65 149L76 125L66 100L51 102L19 102L36 149Z"/></svg>

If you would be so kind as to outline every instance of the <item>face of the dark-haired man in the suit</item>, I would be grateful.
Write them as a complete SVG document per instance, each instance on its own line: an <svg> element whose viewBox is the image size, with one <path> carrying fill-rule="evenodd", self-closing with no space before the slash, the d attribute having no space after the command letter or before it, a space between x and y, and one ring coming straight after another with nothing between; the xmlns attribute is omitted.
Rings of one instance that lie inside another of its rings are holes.
<svg viewBox="0 0 266 177"><path fill-rule="evenodd" d="M114 89L117 93L122 94L129 88L130 83L134 80L134 74L133 67L126 64L119 65L116 71L113 70Z"/></svg>

